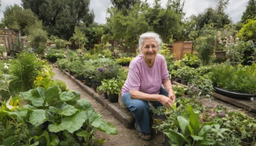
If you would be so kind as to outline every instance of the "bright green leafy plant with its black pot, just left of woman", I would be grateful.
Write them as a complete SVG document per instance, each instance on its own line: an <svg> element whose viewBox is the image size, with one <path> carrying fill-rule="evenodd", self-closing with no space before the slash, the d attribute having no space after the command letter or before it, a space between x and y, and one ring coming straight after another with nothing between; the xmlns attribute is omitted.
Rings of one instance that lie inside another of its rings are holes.
<svg viewBox="0 0 256 146"><path fill-rule="evenodd" d="M121 88L125 81L120 79L104 79L102 85L97 87L97 92L103 90L108 94L108 100L112 103L118 102L119 94L121 94Z"/></svg>

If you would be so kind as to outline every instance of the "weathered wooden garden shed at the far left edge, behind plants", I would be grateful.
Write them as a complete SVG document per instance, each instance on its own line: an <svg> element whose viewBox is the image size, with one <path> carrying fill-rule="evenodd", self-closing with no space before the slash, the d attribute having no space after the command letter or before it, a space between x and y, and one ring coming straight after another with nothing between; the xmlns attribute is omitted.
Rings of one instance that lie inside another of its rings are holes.
<svg viewBox="0 0 256 146"><path fill-rule="evenodd" d="M21 52L20 32L18 29L0 28L0 44L5 46L6 52L12 57L16 52Z"/></svg>

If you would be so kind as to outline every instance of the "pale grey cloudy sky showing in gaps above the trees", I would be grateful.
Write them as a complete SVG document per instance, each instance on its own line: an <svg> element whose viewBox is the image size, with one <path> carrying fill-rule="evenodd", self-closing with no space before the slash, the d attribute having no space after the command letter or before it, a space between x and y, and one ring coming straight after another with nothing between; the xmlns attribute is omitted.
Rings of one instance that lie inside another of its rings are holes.
<svg viewBox="0 0 256 146"><path fill-rule="evenodd" d="M145 0L143 0L145 1ZM165 6L167 0L162 0L162 6ZM234 23L241 20L241 16L245 11L249 0L230 0L230 5L227 7L226 13L229 14ZM148 0L153 3L154 0ZM21 0L1 0L0 19L3 17L3 10L7 5L17 3L20 5ZM96 17L94 19L97 23L106 23L105 17L106 9L111 5L110 0L90 0L90 9L93 9ZM209 0L186 0L183 11L186 13L185 17L191 14L198 14L210 6Z"/></svg>

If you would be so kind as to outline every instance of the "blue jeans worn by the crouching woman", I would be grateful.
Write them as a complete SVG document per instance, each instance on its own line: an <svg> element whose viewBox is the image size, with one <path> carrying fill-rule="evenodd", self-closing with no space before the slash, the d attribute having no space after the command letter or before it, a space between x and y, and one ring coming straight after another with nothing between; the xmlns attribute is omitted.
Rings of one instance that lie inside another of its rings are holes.
<svg viewBox="0 0 256 146"><path fill-rule="evenodd" d="M168 97L168 93L165 89L161 87L159 94ZM132 99L130 97L130 92L126 92L122 95L122 101L131 111L132 115L135 117L137 125L140 127L140 132L143 133L151 133L150 125L149 125L149 104L148 101ZM155 108L159 106L163 106L158 101L149 101L153 103Z"/></svg>

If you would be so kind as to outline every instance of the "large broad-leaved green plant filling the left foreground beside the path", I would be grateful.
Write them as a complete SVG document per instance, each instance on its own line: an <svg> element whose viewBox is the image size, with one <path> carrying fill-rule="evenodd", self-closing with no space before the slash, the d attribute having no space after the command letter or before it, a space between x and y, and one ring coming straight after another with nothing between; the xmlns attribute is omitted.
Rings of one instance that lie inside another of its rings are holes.
<svg viewBox="0 0 256 146"><path fill-rule="evenodd" d="M94 111L89 101L80 99L79 92L61 92L58 86L52 86L20 92L20 96L29 104L13 111L2 104L0 117L3 119L1 122L6 124L9 120L5 119L12 117L17 128L19 123L27 125L26 136L22 141L26 145L96 145L104 143L104 139L98 140L94 136L96 131L118 134L111 123ZM6 124L4 126L7 129ZM9 140L9 145L12 145L17 135L14 133L12 141L10 139L0 138L0 142Z"/></svg>

